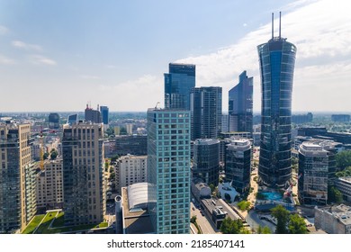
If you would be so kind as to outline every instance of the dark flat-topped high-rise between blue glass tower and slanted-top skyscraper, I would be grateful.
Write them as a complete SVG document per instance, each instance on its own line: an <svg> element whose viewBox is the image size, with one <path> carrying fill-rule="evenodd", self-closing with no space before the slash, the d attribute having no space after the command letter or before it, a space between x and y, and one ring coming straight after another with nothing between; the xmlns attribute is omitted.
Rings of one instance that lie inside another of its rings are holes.
<svg viewBox="0 0 351 252"><path fill-rule="evenodd" d="M192 140L217 139L221 131L221 87L194 87L190 101Z"/></svg>

